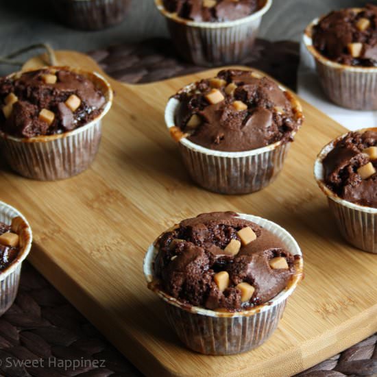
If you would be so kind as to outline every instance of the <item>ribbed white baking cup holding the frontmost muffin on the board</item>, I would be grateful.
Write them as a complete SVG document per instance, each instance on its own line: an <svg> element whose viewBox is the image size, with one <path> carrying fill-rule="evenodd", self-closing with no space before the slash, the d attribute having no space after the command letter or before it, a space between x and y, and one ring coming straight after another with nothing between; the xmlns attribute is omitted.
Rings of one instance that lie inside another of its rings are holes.
<svg viewBox="0 0 377 377"><path fill-rule="evenodd" d="M190 306L160 290L154 276L154 260L158 253L152 244L144 258L144 275L149 289L165 302L167 319L186 347L202 354L226 355L246 352L258 347L276 330L288 297L302 280L303 260L293 236L276 223L253 215L239 217L257 223L276 234L295 256L296 272L287 288L263 305L247 311L210 311Z"/></svg>

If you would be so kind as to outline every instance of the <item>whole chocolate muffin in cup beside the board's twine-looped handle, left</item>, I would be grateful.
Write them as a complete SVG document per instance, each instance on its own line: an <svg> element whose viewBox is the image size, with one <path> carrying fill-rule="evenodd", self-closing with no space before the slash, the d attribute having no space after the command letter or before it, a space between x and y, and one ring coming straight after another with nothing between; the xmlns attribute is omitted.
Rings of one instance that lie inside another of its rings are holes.
<svg viewBox="0 0 377 377"><path fill-rule="evenodd" d="M0 149L10 167L34 180L88 169L112 105L98 73L68 67L17 72L0 80Z"/></svg>

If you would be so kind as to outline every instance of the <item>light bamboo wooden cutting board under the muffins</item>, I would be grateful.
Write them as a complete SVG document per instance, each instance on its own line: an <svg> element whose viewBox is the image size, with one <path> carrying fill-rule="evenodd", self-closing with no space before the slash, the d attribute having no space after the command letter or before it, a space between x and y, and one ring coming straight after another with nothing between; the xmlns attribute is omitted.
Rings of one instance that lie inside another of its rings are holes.
<svg viewBox="0 0 377 377"><path fill-rule="evenodd" d="M101 71L69 51L58 63ZM27 67L44 64L38 59ZM217 69L165 82L112 82L114 107L93 166L75 178L36 182L1 173L1 199L32 225L30 260L114 345L149 376L289 376L377 330L377 256L347 245L313 179L321 147L345 130L302 101L306 121L284 170L267 189L225 196L191 182L164 123L167 99ZM360 125L361 127L363 125ZM200 212L234 210L279 223L304 252L306 278L278 330L257 350L204 356L186 350L148 291L147 246Z"/></svg>

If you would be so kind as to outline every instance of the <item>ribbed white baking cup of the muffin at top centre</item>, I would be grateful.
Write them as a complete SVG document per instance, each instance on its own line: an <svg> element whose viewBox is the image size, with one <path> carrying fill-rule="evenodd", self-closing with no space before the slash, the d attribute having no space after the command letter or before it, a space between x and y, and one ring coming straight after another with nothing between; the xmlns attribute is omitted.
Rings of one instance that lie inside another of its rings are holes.
<svg viewBox="0 0 377 377"><path fill-rule="evenodd" d="M250 53L258 34L262 16L272 0L260 1L263 6L250 16L235 21L197 22L167 12L162 0L155 0L165 16L175 49L180 56L199 66L236 63Z"/></svg>

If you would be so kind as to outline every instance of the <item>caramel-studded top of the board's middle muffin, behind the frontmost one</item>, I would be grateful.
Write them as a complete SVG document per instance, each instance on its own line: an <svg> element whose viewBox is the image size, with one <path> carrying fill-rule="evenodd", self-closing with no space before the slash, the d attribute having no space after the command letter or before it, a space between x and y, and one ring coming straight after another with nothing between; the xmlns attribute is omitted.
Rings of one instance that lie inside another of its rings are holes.
<svg viewBox="0 0 377 377"><path fill-rule="evenodd" d="M180 101L175 124L193 143L218 151L291 141L302 123L289 93L252 71L220 71L183 88L175 98Z"/></svg>

